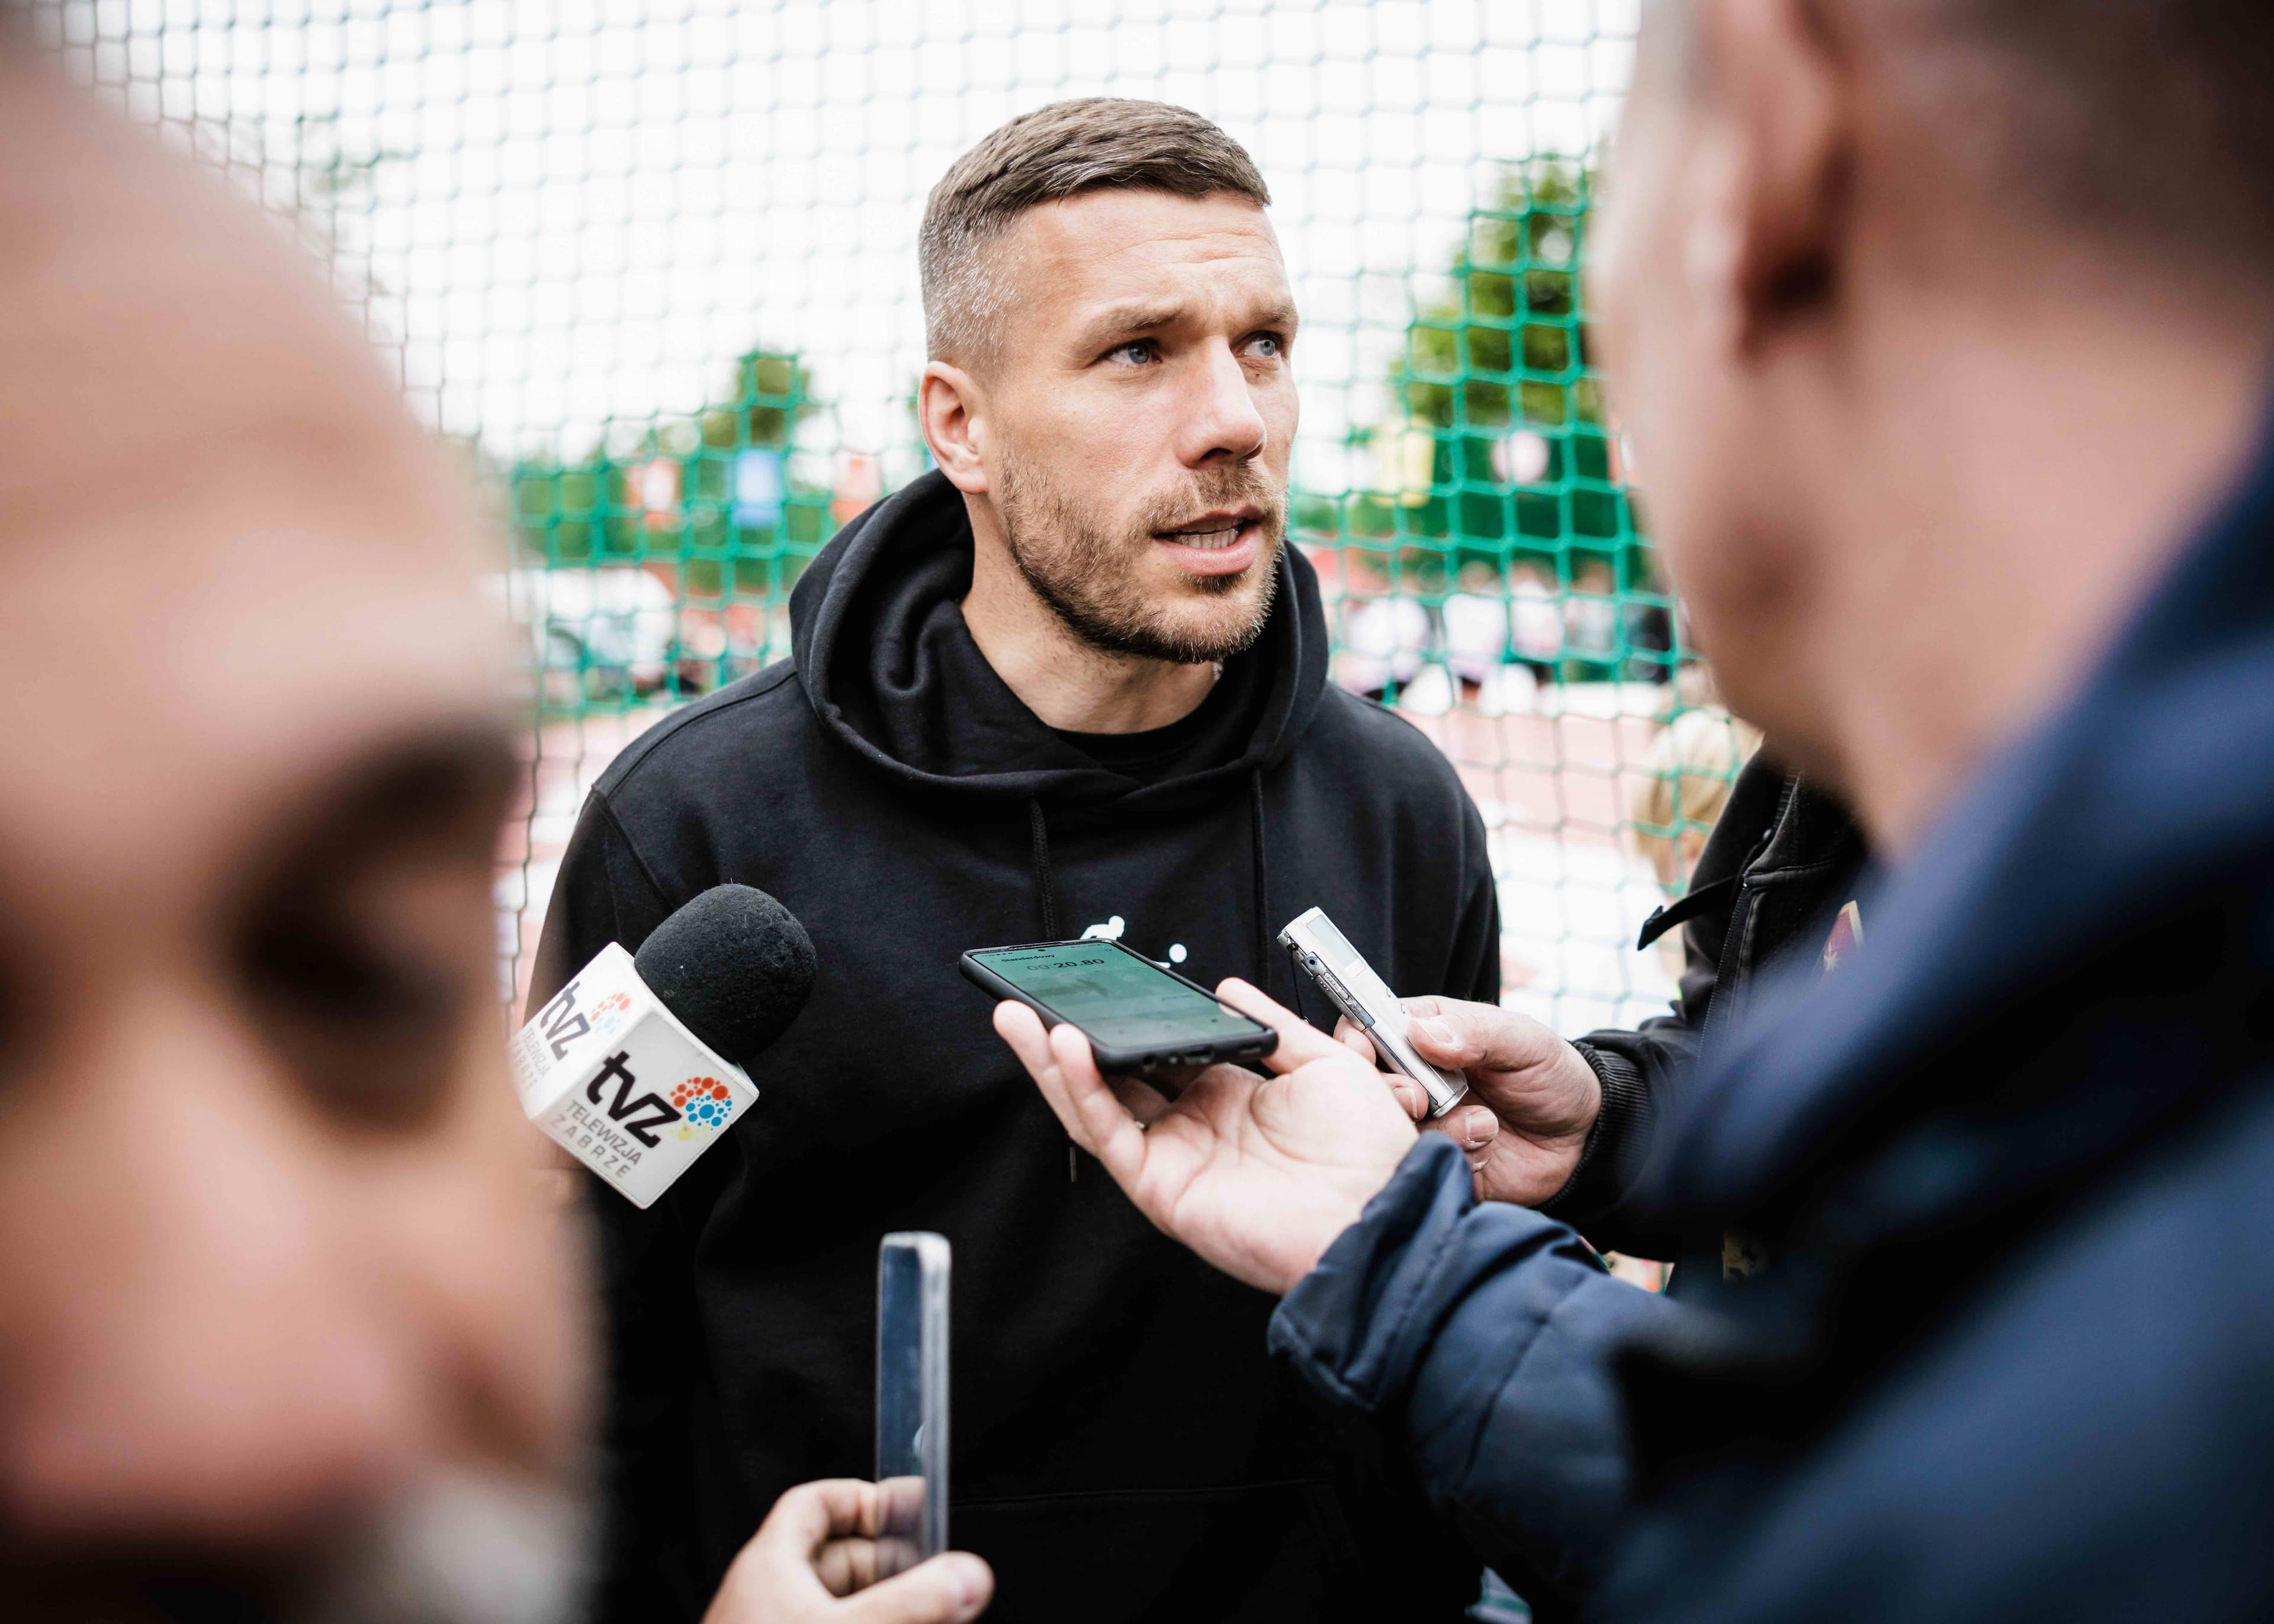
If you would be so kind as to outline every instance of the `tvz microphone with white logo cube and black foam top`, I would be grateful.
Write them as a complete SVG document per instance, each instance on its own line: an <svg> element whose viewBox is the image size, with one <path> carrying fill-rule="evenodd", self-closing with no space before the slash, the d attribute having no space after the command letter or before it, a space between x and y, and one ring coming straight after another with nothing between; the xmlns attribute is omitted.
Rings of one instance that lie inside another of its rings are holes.
<svg viewBox="0 0 2274 1624"><path fill-rule="evenodd" d="M750 885L714 885L625 953L609 942L512 1042L521 1112L653 1205L757 1103L748 1064L814 989L814 939Z"/></svg>

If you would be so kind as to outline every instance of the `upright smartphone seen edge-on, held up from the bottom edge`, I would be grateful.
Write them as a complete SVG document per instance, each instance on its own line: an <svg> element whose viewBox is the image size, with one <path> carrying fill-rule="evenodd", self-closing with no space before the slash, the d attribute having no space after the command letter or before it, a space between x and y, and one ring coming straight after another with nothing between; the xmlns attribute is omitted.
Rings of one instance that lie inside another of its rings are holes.
<svg viewBox="0 0 2274 1624"><path fill-rule="evenodd" d="M948 1237L898 1231L875 1249L878 1579L948 1549Z"/></svg>

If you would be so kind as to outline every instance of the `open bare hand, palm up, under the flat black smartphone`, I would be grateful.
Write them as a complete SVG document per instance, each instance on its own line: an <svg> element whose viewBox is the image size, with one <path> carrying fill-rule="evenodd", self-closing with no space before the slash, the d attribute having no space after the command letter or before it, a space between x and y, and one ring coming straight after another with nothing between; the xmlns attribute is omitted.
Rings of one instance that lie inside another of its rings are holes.
<svg viewBox="0 0 2274 1624"><path fill-rule="evenodd" d="M1271 1076L1207 1067L1171 1101L1132 1078L1107 1083L1078 1028L1046 1033L1021 1003L996 1005L996 1033L1155 1228L1237 1281L1285 1292L1389 1183L1414 1124L1344 1044L1244 980L1217 996L1278 1030Z"/></svg>

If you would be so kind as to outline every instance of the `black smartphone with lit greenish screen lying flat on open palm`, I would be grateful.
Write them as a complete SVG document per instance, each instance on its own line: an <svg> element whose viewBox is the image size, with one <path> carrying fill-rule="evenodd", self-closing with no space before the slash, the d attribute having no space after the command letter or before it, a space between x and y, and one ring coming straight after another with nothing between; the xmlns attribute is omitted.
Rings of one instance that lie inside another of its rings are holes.
<svg viewBox="0 0 2274 1624"><path fill-rule="evenodd" d="M982 992L1016 999L1051 1026L1078 1026L1107 1076L1262 1060L1278 1049L1269 1026L1119 942L971 948L962 971Z"/></svg>

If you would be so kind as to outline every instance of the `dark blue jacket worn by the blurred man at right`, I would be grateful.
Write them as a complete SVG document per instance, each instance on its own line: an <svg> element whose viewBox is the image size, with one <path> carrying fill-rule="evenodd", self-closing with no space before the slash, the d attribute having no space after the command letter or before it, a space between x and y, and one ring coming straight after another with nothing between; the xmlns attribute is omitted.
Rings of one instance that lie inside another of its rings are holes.
<svg viewBox="0 0 2274 1624"><path fill-rule="evenodd" d="M2274 455L1765 987L1640 1208L1706 1306L1424 1144L1273 1344L1546 1610L2274 1615Z"/></svg>

